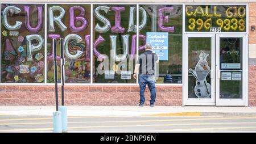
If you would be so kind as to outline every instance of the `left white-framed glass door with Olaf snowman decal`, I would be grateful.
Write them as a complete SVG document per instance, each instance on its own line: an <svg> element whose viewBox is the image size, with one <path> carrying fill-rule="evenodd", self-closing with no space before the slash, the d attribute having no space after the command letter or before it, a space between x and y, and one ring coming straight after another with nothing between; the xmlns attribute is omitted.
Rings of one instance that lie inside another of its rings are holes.
<svg viewBox="0 0 256 144"><path fill-rule="evenodd" d="M183 105L215 105L215 35L186 34Z"/></svg>

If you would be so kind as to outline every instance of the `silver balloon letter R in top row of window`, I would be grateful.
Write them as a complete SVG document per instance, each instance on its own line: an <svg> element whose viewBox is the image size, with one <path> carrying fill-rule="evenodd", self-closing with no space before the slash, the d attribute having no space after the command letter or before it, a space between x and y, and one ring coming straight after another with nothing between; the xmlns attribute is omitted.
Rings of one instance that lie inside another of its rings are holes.
<svg viewBox="0 0 256 144"><path fill-rule="evenodd" d="M53 11L55 10L60 11L59 16L53 16ZM65 15L65 10L62 7L60 6L49 7L49 32L55 32L53 22L56 22L56 24L60 27L61 32L67 29L67 27L63 24L63 22L61 22L61 19L64 17L64 15Z"/></svg>

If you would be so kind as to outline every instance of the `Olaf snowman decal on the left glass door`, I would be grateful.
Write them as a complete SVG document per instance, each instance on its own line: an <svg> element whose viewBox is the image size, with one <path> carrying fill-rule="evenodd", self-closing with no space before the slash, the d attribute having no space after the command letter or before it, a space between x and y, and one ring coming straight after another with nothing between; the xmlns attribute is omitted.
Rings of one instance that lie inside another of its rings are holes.
<svg viewBox="0 0 256 144"><path fill-rule="evenodd" d="M207 75L210 72L210 67L207 62L208 56L208 53L201 51L195 70L189 69L189 73L196 78L194 91L197 98L210 98L210 84L206 80Z"/></svg>

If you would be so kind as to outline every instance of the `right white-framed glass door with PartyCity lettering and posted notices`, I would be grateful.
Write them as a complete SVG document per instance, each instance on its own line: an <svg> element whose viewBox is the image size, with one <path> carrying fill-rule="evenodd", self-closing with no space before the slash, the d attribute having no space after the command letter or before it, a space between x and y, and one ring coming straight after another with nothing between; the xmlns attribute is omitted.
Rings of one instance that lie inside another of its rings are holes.
<svg viewBox="0 0 256 144"><path fill-rule="evenodd" d="M247 105L246 35L216 35L216 105Z"/></svg>

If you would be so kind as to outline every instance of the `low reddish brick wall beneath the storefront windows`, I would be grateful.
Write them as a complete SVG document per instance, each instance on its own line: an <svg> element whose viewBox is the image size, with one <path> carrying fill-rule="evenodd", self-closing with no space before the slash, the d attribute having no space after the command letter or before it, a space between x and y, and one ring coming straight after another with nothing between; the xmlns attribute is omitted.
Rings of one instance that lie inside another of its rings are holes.
<svg viewBox="0 0 256 144"><path fill-rule="evenodd" d="M65 86L65 105L138 105L138 86ZM59 104L60 104L59 87ZM146 105L150 92L146 88ZM55 105L54 86L0 86L0 105ZM156 105L182 105L181 86L156 86Z"/></svg>

